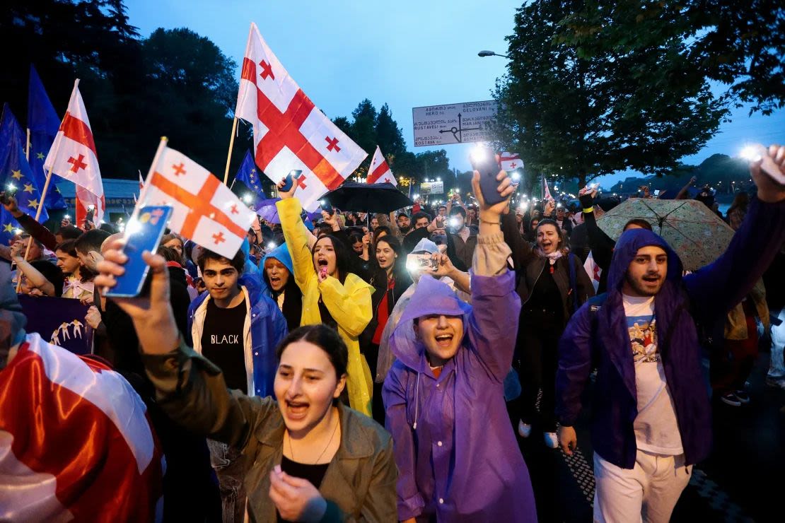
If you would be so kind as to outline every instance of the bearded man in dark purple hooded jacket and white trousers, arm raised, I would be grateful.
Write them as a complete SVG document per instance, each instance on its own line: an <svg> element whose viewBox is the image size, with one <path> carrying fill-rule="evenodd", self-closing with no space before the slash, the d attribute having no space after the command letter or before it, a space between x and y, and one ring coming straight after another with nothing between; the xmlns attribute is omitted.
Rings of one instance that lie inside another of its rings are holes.
<svg viewBox="0 0 785 523"><path fill-rule="evenodd" d="M769 155L785 173L785 147ZM608 292L574 314L559 343L559 441L572 427L591 369L594 521L668 521L692 465L711 449L710 405L696 320L712 325L750 292L785 241L785 187L750 165L758 186L742 226L714 263L682 278L681 261L652 231L616 242Z"/></svg>

